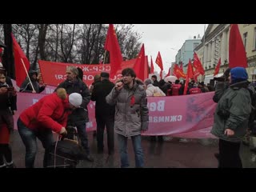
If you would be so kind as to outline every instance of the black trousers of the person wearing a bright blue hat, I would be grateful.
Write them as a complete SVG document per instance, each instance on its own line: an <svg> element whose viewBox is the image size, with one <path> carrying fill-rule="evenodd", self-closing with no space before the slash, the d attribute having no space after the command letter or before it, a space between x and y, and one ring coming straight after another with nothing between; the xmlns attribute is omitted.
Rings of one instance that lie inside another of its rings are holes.
<svg viewBox="0 0 256 192"><path fill-rule="evenodd" d="M219 168L242 168L242 161L239 155L240 142L227 142L218 140L219 147Z"/></svg>

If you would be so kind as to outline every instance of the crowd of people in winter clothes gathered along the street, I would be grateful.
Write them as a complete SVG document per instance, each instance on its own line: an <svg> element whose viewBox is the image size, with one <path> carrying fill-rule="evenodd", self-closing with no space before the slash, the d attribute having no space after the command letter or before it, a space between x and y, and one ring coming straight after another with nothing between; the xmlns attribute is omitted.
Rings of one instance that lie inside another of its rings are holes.
<svg viewBox="0 0 256 192"><path fill-rule="evenodd" d="M22 93L41 93L45 85L38 72L30 70L30 79L20 87ZM219 138L218 167L242 167L239 148L248 128L251 112L250 93L246 89L249 82L246 69L235 67L226 70L225 81L215 87L214 102L218 103L214 114L211 133ZM121 167L129 167L127 150L128 138L134 148L135 167L144 167L142 132L148 130L149 110L147 97L183 95L184 82L165 82L153 75L144 82L136 78L134 70L122 70L122 78L110 82L110 74L102 72L94 77L94 83L86 86L82 81L80 68L68 66L66 80L61 82L53 94L41 98L34 105L22 111L18 118L18 133L26 147L25 166L34 167L37 153L37 138L45 149L43 166L46 166L48 149L54 142L53 132L67 134L67 126L75 126L85 153L86 160L94 162L90 154L86 122L89 122L87 105L95 102L98 154L104 153L104 131L106 127L107 150L114 154L114 137L118 139ZM189 82L186 94L201 94L213 91L204 82ZM17 110L17 90L14 89L5 68L0 63L0 167L14 167L10 137L14 130L13 115ZM115 134L114 134L115 133ZM163 135L151 136L152 142L163 142Z"/></svg>

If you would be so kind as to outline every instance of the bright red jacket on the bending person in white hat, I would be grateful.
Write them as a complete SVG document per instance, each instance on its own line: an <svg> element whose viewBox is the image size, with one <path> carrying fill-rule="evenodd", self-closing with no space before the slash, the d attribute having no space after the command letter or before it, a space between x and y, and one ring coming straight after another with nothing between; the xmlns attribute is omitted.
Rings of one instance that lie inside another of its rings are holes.
<svg viewBox="0 0 256 192"><path fill-rule="evenodd" d="M70 114L66 91L64 97L59 91L49 94L22 111L19 118L31 130L48 128L58 133L62 126L66 127L67 117Z"/></svg>

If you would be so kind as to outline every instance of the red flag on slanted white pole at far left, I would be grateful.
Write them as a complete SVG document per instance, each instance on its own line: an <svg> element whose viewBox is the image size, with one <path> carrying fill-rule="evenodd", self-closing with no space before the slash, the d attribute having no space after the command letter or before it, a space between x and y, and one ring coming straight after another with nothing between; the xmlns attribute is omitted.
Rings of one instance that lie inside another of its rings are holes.
<svg viewBox="0 0 256 192"><path fill-rule="evenodd" d="M26 70L30 69L30 62L26 58L26 55L22 51L22 48L18 45L18 42L14 38L14 35L11 34L13 38L13 46L14 46L14 65L15 65L15 76L16 76L16 84L17 86L21 86L22 82L26 79ZM22 61L25 64L26 70L22 64Z"/></svg>

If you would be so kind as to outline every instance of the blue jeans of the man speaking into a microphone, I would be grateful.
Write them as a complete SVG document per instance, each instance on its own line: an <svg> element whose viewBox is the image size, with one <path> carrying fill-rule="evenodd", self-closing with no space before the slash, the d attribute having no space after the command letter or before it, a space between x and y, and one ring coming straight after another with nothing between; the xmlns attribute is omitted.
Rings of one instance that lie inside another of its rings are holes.
<svg viewBox="0 0 256 192"><path fill-rule="evenodd" d="M118 147L121 157L121 168L129 167L129 158L127 153L127 139L122 134L118 134ZM142 137L140 134L131 136L135 154L135 167L142 168L144 166L144 154L142 150Z"/></svg>

